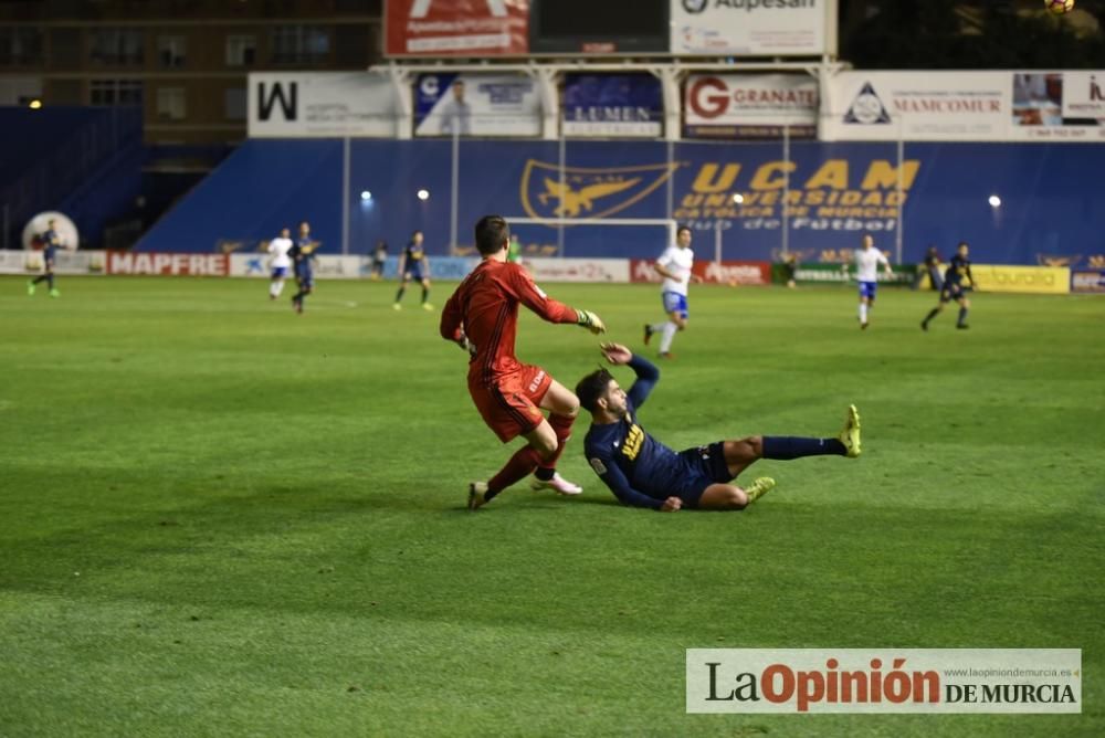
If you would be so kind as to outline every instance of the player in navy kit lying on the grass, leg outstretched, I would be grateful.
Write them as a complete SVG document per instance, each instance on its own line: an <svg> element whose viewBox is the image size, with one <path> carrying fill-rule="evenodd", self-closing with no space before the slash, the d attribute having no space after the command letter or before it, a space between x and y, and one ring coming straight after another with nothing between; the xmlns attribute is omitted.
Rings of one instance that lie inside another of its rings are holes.
<svg viewBox="0 0 1105 738"><path fill-rule="evenodd" d="M662 513L683 507L740 510L775 486L768 476L747 488L730 484L757 458L860 455L855 405L849 405L844 429L835 439L749 435L676 453L653 439L636 420L636 409L660 380L660 370L620 344L602 344L601 350L610 363L628 363L636 372L636 381L625 392L606 369L579 381L576 394L591 413L583 449L594 473L627 505Z"/></svg>

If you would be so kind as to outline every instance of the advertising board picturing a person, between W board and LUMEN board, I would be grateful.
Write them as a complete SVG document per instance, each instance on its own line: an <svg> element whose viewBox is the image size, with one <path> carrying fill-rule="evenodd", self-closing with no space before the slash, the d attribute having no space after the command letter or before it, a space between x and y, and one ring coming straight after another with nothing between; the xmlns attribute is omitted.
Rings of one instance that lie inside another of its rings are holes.
<svg viewBox="0 0 1105 738"><path fill-rule="evenodd" d="M538 136L541 103L525 74L420 74L415 136Z"/></svg>

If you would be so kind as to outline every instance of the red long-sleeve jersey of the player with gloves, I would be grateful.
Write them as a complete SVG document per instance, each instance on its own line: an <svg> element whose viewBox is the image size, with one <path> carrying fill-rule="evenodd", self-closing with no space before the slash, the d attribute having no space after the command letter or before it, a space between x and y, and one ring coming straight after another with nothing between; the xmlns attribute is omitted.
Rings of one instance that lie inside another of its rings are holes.
<svg viewBox="0 0 1105 738"><path fill-rule="evenodd" d="M490 387L522 369L514 356L518 304L549 323L576 323L576 310L559 303L534 284L517 264L485 259L472 270L441 312L441 336L459 340L461 331L475 346L469 365L469 382Z"/></svg>

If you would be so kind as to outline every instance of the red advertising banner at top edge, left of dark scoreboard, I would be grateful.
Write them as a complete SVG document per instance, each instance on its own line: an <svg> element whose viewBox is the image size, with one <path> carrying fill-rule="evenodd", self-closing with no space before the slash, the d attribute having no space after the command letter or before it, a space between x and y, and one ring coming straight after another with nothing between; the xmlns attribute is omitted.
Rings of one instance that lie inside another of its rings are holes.
<svg viewBox="0 0 1105 738"><path fill-rule="evenodd" d="M524 56L529 0L386 0L388 56Z"/></svg>

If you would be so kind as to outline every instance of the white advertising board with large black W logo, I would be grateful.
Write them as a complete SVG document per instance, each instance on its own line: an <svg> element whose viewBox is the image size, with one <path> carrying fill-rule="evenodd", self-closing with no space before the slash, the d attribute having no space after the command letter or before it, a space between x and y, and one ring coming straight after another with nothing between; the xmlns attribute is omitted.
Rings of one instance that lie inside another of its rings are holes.
<svg viewBox="0 0 1105 738"><path fill-rule="evenodd" d="M390 80L366 72L251 73L251 138L396 135Z"/></svg>

